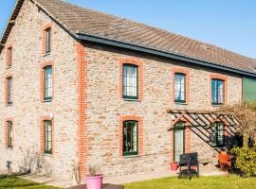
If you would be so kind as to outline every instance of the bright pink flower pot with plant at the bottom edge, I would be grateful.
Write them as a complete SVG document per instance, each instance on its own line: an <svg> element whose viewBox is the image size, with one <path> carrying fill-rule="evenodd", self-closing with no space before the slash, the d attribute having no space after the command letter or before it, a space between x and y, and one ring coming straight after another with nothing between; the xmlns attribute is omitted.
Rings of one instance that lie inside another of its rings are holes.
<svg viewBox="0 0 256 189"><path fill-rule="evenodd" d="M89 166L89 175L85 176L87 189L102 189L103 176L99 166Z"/></svg>

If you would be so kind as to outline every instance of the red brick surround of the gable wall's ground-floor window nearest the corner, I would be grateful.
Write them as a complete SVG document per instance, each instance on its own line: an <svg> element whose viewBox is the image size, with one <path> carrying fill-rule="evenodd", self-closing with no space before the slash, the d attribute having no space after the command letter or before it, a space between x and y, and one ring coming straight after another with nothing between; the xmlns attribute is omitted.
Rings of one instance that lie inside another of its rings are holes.
<svg viewBox="0 0 256 189"><path fill-rule="evenodd" d="M44 121L51 121L51 127L52 127L52 154L54 154L55 150L55 142L54 142L54 121L53 119L46 115L40 117L40 151L44 154L45 153L45 136L44 136Z"/></svg>

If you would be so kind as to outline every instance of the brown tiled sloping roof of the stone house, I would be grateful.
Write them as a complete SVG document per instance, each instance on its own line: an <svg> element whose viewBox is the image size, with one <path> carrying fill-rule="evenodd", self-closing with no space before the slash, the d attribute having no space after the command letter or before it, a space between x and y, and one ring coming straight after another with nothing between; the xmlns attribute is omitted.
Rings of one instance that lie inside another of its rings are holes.
<svg viewBox="0 0 256 189"><path fill-rule="evenodd" d="M60 0L35 2L74 36L78 33L88 34L256 74L256 60L209 43Z"/></svg>

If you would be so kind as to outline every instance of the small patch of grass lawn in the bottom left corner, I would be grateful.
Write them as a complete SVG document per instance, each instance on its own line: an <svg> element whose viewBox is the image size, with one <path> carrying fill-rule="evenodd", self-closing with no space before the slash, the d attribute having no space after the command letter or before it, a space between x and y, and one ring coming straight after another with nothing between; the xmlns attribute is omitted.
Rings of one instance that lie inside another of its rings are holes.
<svg viewBox="0 0 256 189"><path fill-rule="evenodd" d="M46 186L41 183L22 180L17 177L8 177L6 175L0 175L0 188L17 188L17 189L57 189L52 186Z"/></svg>

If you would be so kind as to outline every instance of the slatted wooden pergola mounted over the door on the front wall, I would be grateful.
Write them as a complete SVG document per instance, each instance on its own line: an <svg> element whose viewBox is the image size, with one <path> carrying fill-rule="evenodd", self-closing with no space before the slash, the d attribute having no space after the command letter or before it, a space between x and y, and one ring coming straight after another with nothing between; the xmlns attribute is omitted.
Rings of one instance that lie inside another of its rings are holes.
<svg viewBox="0 0 256 189"><path fill-rule="evenodd" d="M196 110L169 110L172 115L172 123L167 129L174 129L176 123L186 122L186 126L209 128L215 122L224 122L228 127L238 128L241 125L242 115L219 111L196 111Z"/></svg>

